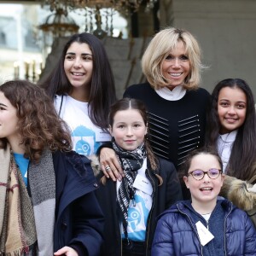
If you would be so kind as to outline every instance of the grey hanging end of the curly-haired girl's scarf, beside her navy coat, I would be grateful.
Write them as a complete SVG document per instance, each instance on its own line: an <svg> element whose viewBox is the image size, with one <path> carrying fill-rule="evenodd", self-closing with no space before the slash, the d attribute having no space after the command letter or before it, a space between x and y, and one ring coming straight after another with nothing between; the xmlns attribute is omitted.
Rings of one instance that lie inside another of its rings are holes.
<svg viewBox="0 0 256 256"><path fill-rule="evenodd" d="M38 255L53 255L55 171L49 150L44 151L38 164L31 163L28 180L38 236Z"/></svg>

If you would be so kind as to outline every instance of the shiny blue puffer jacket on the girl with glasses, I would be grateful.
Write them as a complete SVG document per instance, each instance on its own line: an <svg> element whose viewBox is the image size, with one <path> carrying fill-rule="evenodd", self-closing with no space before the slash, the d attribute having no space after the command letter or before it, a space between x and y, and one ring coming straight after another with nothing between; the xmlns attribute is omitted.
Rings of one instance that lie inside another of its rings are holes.
<svg viewBox="0 0 256 256"><path fill-rule="evenodd" d="M220 205L224 209L224 255L256 255L256 230L247 213L227 200ZM198 219L193 215L185 201L163 212L155 230L152 255L203 255L195 226Z"/></svg>

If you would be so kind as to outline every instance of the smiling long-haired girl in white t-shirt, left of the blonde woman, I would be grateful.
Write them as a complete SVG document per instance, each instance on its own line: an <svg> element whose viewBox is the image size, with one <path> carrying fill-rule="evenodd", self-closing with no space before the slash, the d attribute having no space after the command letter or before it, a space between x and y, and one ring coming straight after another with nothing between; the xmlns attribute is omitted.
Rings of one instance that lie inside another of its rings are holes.
<svg viewBox="0 0 256 256"><path fill-rule="evenodd" d="M111 140L108 113L116 95L108 56L98 38L86 32L69 38L42 86L71 130L73 150L90 156Z"/></svg>

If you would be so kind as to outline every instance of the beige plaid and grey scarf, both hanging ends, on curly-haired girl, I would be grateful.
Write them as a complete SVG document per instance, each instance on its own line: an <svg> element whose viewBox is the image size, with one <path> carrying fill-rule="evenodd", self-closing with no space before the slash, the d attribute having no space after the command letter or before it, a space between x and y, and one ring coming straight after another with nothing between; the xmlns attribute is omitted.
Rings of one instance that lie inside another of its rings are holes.
<svg viewBox="0 0 256 256"><path fill-rule="evenodd" d="M9 147L0 149L0 163L0 255L23 255L35 242L38 256L53 255L55 171L51 152L45 150L39 163L30 163L32 198Z"/></svg>

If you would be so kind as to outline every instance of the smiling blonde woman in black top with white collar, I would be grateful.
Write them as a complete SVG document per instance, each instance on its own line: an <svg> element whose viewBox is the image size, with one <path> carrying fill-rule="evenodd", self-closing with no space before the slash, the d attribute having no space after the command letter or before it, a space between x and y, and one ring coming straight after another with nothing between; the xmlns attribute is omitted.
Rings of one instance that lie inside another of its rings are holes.
<svg viewBox="0 0 256 256"><path fill-rule="evenodd" d="M143 59L144 84L131 85L125 97L145 103L154 154L171 160L177 170L189 152L204 144L207 90L201 80L201 49L188 31L174 27L158 32ZM121 178L113 151L102 148L100 160L107 177ZM111 170L106 172L106 166Z"/></svg>

